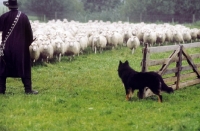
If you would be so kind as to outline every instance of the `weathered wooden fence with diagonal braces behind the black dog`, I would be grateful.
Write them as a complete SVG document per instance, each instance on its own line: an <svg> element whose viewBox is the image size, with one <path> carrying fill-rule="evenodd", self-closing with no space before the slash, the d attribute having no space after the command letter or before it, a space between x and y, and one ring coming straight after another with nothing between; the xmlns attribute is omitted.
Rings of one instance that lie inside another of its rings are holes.
<svg viewBox="0 0 200 131"><path fill-rule="evenodd" d="M199 52L197 54L189 54L186 50L188 48L196 48ZM172 53L168 58L156 60L150 58L150 55L153 53L163 52ZM149 68L152 66L158 66L159 70L155 72L160 74L166 84L171 86L174 90L199 84L200 42L160 47L148 47L146 44L143 48L143 60L141 65L143 72L149 71ZM151 95L153 95L153 93L146 88L144 97Z"/></svg>

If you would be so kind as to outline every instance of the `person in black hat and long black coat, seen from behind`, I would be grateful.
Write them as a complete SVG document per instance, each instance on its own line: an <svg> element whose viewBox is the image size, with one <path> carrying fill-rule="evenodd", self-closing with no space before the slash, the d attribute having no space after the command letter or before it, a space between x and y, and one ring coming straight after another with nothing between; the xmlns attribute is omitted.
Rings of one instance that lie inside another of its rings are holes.
<svg viewBox="0 0 200 131"><path fill-rule="evenodd" d="M31 60L29 46L33 33L28 17L18 11L17 0L4 1L10 11L0 16L0 93L5 94L6 78L21 78L25 93L37 94L32 90Z"/></svg>

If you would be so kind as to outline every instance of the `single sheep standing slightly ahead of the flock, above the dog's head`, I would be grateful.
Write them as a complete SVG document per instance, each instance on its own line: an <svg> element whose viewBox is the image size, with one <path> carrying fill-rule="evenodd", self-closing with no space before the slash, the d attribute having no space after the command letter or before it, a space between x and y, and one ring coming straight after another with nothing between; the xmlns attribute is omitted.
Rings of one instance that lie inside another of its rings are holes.
<svg viewBox="0 0 200 131"><path fill-rule="evenodd" d="M140 41L136 36L132 36L127 41L127 47L131 49L132 54L134 53L134 50L140 46Z"/></svg>

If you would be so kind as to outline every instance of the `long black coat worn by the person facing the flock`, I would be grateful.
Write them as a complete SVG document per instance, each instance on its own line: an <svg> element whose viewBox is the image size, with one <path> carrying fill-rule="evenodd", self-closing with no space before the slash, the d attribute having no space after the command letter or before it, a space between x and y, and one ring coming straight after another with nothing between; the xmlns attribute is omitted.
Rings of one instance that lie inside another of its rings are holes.
<svg viewBox="0 0 200 131"><path fill-rule="evenodd" d="M2 41L18 14L18 10L10 10L0 17ZM21 13L18 23L5 44L4 60L6 66L0 63L0 77L31 78L31 60L29 46L33 41L33 33L28 17ZM3 62L3 61L1 61Z"/></svg>

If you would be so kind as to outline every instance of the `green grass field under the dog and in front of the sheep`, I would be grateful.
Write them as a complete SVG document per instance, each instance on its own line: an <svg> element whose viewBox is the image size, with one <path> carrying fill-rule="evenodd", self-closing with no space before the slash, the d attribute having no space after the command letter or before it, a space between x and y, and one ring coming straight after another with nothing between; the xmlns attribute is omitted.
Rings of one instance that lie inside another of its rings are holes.
<svg viewBox="0 0 200 131"><path fill-rule="evenodd" d="M163 103L156 96L139 100L136 92L126 101L117 74L119 60L129 60L141 71L141 48L134 55L124 47L81 55L72 62L65 57L60 63L37 64L32 81L38 95L25 95L21 80L8 78L6 94L0 95L0 130L200 130L200 85L163 93Z"/></svg>

